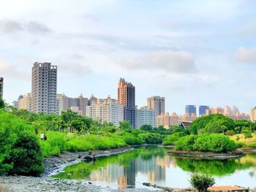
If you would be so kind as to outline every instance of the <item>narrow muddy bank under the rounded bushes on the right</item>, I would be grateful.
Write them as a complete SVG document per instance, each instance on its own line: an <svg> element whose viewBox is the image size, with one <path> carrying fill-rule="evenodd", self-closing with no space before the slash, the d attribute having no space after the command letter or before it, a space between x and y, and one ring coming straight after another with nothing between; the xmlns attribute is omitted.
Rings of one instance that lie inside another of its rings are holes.
<svg viewBox="0 0 256 192"><path fill-rule="evenodd" d="M244 156L244 153L241 153L239 151L234 151L233 153L212 153L200 151L170 150L169 152L167 152L167 154L178 157L190 157L208 160L225 160Z"/></svg>

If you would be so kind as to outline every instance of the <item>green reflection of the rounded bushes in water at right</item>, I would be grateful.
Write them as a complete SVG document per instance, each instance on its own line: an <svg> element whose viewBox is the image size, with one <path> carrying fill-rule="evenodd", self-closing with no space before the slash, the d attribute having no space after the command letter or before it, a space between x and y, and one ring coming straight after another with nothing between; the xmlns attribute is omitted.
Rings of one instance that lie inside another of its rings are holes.
<svg viewBox="0 0 256 192"><path fill-rule="evenodd" d="M249 158L250 157L250 158ZM233 174L237 170L255 168L256 156L246 155L230 160L200 160L193 158L176 158L176 164L187 172L200 172L215 176ZM254 175L252 172L250 175Z"/></svg>

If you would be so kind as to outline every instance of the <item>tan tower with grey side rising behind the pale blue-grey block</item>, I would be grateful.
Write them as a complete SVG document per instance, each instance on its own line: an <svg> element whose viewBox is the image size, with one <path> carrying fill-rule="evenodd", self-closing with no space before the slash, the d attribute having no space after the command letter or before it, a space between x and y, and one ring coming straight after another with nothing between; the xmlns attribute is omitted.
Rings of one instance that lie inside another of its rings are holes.
<svg viewBox="0 0 256 192"><path fill-rule="evenodd" d="M165 115L165 97L151 96L147 99L147 106L155 111L156 116Z"/></svg>

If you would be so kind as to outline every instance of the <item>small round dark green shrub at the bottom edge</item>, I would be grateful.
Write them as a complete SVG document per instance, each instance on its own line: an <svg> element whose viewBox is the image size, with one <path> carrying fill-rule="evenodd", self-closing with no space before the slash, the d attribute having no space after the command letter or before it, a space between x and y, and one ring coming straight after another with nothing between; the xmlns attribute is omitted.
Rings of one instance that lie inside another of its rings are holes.
<svg viewBox="0 0 256 192"><path fill-rule="evenodd" d="M196 188L199 192L206 192L207 188L215 184L214 177L207 174L192 174L189 180L192 187Z"/></svg>

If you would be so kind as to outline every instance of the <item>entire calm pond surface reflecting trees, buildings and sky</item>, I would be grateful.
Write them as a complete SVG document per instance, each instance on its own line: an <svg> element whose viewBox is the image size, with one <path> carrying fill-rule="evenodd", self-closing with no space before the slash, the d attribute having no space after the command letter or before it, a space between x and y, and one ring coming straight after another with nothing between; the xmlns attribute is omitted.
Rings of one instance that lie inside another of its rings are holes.
<svg viewBox="0 0 256 192"><path fill-rule="evenodd" d="M167 155L168 149L157 146L137 147L135 150L98 158L93 164L82 162L67 166L65 172L53 177L90 180L95 185L110 188L148 188L142 183L184 188L189 176L201 172L214 176L217 185L256 187L256 155L232 160L197 160Z"/></svg>

